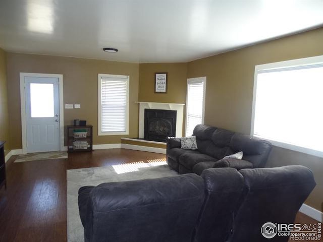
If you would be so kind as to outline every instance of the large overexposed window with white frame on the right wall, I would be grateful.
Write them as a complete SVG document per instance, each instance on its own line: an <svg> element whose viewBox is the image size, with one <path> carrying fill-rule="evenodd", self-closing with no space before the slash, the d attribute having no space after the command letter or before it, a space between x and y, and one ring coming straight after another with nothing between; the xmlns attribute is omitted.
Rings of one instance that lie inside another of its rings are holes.
<svg viewBox="0 0 323 242"><path fill-rule="evenodd" d="M251 135L323 157L323 56L255 67Z"/></svg>

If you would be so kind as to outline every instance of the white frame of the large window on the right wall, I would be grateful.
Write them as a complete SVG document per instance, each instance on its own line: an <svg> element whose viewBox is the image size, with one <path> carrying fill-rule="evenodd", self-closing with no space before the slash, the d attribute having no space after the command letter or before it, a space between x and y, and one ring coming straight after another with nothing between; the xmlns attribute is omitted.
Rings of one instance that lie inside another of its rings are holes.
<svg viewBox="0 0 323 242"><path fill-rule="evenodd" d="M278 146L281 148L289 149L298 151L301 153L306 153L310 155L315 155L318 157L323 157L323 152L305 148L302 146L297 146L289 143L284 143L280 141L271 140L268 138L263 138L261 136L254 135L254 122L255 122L255 107L256 107L256 94L257 94L257 77L258 73L260 72L266 72L266 71L283 71L285 69L301 69L302 67L310 67L314 65L322 65L323 64L323 55L319 56L313 56L313 57L306 57L306 58L300 58L300 59L292 59L290 61L283 61L283 62L276 62L276 63L270 63L270 64L263 64L263 65L257 65L255 66L254 70L254 83L253 83L253 96L252 96L252 114L251 114L251 129L250 129L250 136L252 137L258 137L267 141L270 141L274 146Z"/></svg>

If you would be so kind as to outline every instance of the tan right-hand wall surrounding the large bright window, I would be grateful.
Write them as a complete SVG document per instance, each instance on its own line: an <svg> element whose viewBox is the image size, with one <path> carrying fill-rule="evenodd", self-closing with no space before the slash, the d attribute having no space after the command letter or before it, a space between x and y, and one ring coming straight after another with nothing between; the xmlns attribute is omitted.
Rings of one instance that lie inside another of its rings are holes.
<svg viewBox="0 0 323 242"><path fill-rule="evenodd" d="M319 28L188 63L188 78L207 77L205 124L250 134L254 67L323 55L322 43ZM290 164L312 169L317 186L306 204L323 211L323 158L275 147L267 162L268 167Z"/></svg>

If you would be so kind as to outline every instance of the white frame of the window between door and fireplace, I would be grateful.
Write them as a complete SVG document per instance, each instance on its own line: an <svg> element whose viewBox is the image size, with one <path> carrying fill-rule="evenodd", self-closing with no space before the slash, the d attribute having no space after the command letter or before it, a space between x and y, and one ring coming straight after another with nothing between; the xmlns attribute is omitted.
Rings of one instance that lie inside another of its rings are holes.
<svg viewBox="0 0 323 242"><path fill-rule="evenodd" d="M127 82L127 101L126 101L126 131L125 132L101 132L101 81L102 78L119 78L126 79ZM98 74L98 136L106 136L106 135L129 135L129 76L125 75L112 75L112 74Z"/></svg>

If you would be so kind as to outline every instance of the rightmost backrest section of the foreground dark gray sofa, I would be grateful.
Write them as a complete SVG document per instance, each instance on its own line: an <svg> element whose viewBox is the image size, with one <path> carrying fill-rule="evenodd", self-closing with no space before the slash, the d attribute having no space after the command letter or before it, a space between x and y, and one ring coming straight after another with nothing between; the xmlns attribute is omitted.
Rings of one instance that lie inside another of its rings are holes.
<svg viewBox="0 0 323 242"><path fill-rule="evenodd" d="M291 224L315 187L313 173L300 166L242 169L245 192L233 223L230 242L269 241L260 230L264 223ZM278 236L270 241L288 241Z"/></svg>

